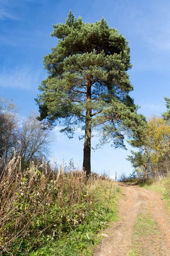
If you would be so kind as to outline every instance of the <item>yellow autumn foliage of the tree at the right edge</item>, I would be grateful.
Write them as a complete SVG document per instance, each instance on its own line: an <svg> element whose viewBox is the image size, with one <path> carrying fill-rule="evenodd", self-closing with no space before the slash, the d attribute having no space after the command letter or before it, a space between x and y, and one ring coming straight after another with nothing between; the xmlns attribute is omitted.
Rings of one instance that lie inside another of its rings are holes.
<svg viewBox="0 0 170 256"><path fill-rule="evenodd" d="M156 164L170 151L170 125L167 120L155 115L149 118L148 124L150 156L152 163Z"/></svg>

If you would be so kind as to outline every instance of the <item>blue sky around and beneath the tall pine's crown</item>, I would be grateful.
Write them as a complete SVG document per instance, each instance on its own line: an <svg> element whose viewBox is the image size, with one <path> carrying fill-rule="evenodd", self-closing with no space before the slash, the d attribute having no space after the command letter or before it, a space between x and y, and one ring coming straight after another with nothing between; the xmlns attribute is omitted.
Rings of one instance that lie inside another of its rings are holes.
<svg viewBox="0 0 170 256"><path fill-rule="evenodd" d="M170 1L168 0L0 0L0 95L13 98L21 107L20 115L37 110L34 98L37 87L46 77L43 56L57 44L51 38L52 24L64 22L69 9L85 22L102 17L129 41L129 71L134 90L131 96L146 116L165 111L164 96L170 97ZM58 162L73 158L82 163L83 141L68 140L55 128L57 141L53 146ZM97 138L93 144L97 142ZM130 148L130 147L128 147ZM92 152L92 169L104 169L114 175L130 173L126 160L129 150L105 145Z"/></svg>

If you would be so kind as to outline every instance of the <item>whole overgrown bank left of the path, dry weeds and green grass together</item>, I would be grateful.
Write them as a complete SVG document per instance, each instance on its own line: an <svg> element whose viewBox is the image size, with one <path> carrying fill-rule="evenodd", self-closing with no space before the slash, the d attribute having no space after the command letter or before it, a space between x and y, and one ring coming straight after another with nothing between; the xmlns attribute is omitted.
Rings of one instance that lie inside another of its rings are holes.
<svg viewBox="0 0 170 256"><path fill-rule="evenodd" d="M119 187L105 176L53 169L20 157L0 180L0 256L90 256L99 231L118 219Z"/></svg>

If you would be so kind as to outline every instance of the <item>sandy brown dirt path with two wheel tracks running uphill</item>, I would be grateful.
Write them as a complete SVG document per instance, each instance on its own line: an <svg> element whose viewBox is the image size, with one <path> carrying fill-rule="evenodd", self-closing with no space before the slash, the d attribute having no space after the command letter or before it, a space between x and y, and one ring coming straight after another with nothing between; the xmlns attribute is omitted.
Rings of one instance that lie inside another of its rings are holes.
<svg viewBox="0 0 170 256"><path fill-rule="evenodd" d="M108 230L108 236L96 248L94 256L127 256L136 218L140 213L147 211L157 223L160 248L157 253L151 250L154 253L146 253L142 256L170 256L170 219L161 195L134 184L119 183L119 186L124 189L118 207L120 220ZM153 243L154 246L157 245Z"/></svg>

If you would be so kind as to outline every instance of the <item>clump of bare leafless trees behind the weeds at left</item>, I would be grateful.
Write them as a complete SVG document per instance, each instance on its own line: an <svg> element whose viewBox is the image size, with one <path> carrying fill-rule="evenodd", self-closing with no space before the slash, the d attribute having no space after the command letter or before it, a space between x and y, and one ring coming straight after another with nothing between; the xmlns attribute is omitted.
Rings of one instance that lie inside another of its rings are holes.
<svg viewBox="0 0 170 256"><path fill-rule="evenodd" d="M52 131L43 129L37 112L21 118L17 111L13 99L8 101L0 97L0 172L13 157L14 150L24 167L32 160L42 161L42 157L47 160L56 137Z"/></svg>

